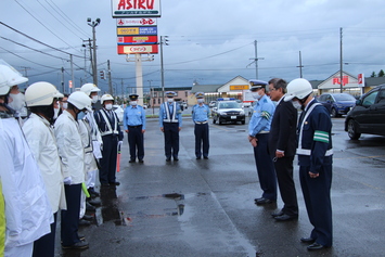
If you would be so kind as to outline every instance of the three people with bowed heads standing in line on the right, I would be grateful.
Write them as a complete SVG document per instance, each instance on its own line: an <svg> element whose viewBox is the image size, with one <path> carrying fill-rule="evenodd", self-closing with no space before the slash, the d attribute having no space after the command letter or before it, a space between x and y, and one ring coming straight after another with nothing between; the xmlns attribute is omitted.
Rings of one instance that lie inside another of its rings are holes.
<svg viewBox="0 0 385 257"><path fill-rule="evenodd" d="M312 97L311 83L303 78L288 85L280 78L269 82L251 80L255 100L248 125L261 197L257 205L277 202L277 182L284 206L272 213L277 221L298 218L293 180L293 160L298 155L299 181L313 229L300 242L308 250L332 246L332 123L329 112ZM269 91L270 97L267 95ZM277 105L272 102L275 101ZM299 120L297 113L301 111Z"/></svg>

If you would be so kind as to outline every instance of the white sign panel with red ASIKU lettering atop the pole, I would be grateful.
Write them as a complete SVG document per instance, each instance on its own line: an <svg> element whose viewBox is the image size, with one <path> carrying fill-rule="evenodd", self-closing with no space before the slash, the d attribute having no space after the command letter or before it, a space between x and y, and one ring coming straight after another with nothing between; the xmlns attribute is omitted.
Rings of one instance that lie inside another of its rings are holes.
<svg viewBox="0 0 385 257"><path fill-rule="evenodd" d="M113 17L161 17L161 0L112 0Z"/></svg>

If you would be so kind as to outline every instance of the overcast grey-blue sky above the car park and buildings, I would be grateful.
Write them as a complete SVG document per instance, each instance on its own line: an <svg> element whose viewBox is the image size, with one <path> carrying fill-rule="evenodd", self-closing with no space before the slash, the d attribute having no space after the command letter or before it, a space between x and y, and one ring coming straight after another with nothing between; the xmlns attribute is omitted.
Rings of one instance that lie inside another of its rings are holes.
<svg viewBox="0 0 385 257"><path fill-rule="evenodd" d="M339 28L343 28L344 70L367 77L385 69L385 5L381 0L163 0L157 20L158 36L168 36L164 47L165 86L222 85L238 75L269 80L303 76L326 79L339 70ZM92 38L87 17L101 18L97 26L98 68L111 61L118 93L136 86L134 63L116 50L116 21L111 1L1 0L0 21L41 42L77 55L75 85L92 81L82 69L82 40ZM0 57L23 74L29 83L46 80L61 89L61 67L70 79L69 55L37 43L0 25ZM12 41L10 41L12 40ZM28 46L43 53L18 46ZM10 53L11 52L11 53ZM89 52L87 52L89 57ZM161 87L161 55L143 62L144 87ZM87 70L90 72L89 62ZM150 81L149 81L150 80ZM99 85L107 90L107 81Z"/></svg>

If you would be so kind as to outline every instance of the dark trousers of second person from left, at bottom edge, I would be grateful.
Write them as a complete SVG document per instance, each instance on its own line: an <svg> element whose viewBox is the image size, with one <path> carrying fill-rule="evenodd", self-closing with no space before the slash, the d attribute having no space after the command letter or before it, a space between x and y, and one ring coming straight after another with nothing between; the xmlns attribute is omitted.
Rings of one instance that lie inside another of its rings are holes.
<svg viewBox="0 0 385 257"><path fill-rule="evenodd" d="M53 257L55 255L55 234L56 234L57 213L53 214L51 233L44 234L34 242L34 257Z"/></svg>

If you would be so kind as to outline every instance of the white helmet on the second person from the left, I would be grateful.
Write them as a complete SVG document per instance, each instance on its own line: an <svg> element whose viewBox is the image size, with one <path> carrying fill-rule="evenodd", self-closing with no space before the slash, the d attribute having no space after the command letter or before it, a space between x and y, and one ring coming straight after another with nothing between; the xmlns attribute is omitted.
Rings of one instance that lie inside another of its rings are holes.
<svg viewBox="0 0 385 257"><path fill-rule="evenodd" d="M28 107L51 105L53 99L63 98L55 86L49 82L35 82L25 90L25 102Z"/></svg>

